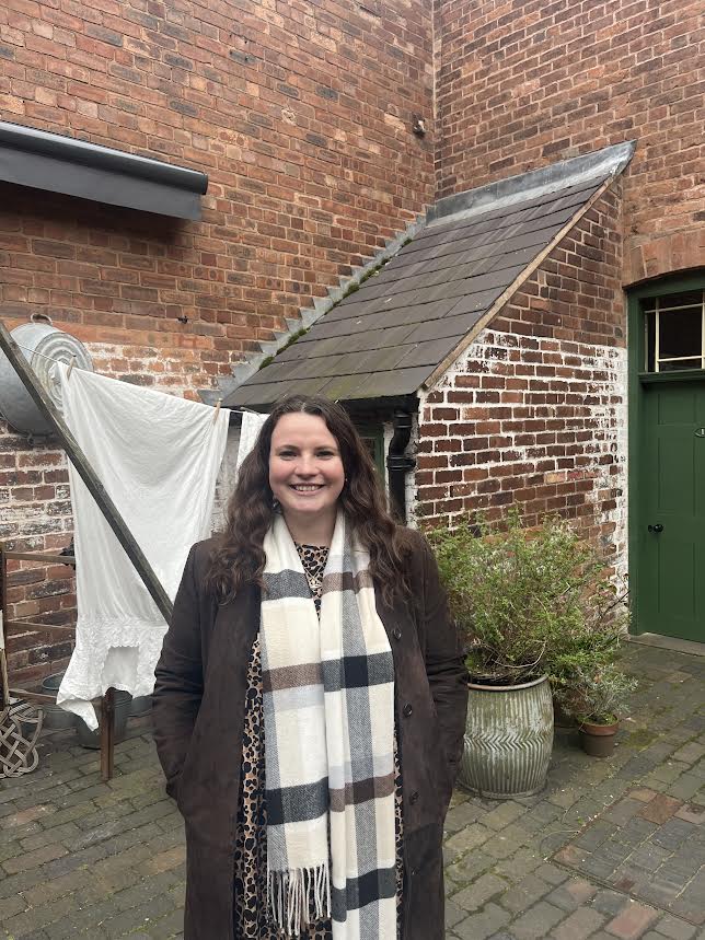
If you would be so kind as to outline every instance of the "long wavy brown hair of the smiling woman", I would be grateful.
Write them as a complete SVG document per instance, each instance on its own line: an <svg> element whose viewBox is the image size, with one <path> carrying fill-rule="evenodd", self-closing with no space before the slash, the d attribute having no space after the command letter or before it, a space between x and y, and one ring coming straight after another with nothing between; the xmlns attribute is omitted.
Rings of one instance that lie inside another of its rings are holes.
<svg viewBox="0 0 705 940"><path fill-rule="evenodd" d="M249 583L263 585L264 536L274 517L269 486L269 450L274 428L282 415L314 415L323 418L336 439L346 484L338 498L352 531L370 555L370 573L386 603L406 594L405 559L408 531L392 519L372 459L347 411L334 402L312 395L290 395L273 408L253 450L244 459L228 506L226 531L218 537L210 560L209 587L224 600Z"/></svg>

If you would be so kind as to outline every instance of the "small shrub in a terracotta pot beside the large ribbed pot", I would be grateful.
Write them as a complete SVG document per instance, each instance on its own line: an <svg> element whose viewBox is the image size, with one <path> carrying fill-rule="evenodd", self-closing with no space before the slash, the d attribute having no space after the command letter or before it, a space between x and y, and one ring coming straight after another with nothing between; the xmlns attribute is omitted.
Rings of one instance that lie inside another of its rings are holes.
<svg viewBox="0 0 705 940"><path fill-rule="evenodd" d="M627 676L616 663L585 672L574 677L574 691L566 710L578 722L580 743L592 757L610 757L614 753L620 718L627 713L628 697L637 681Z"/></svg>

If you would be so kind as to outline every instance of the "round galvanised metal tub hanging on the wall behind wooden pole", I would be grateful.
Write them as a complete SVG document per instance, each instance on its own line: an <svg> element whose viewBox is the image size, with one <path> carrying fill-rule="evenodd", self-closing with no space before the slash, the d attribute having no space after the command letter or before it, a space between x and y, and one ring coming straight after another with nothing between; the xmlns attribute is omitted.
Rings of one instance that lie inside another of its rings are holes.
<svg viewBox="0 0 705 940"><path fill-rule="evenodd" d="M45 314L33 314L30 323L12 330L12 338L30 362L49 397L61 411L61 394L56 362L70 363L76 357L79 369L93 371L93 362L80 340L51 325ZM0 414L23 434L48 434L50 427L34 404L14 367L0 352Z"/></svg>

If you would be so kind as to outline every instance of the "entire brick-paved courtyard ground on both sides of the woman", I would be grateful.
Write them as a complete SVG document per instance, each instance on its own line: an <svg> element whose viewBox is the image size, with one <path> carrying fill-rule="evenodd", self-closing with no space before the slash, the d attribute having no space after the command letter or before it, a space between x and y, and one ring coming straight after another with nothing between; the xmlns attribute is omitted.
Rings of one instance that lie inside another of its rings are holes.
<svg viewBox="0 0 705 940"><path fill-rule="evenodd" d="M642 681L609 761L556 735L546 789L448 815L448 940L705 938L705 658L629 645ZM180 937L183 825L148 719L101 784L94 752L43 739L0 781L0 938ZM218 938L213 938L218 940Z"/></svg>

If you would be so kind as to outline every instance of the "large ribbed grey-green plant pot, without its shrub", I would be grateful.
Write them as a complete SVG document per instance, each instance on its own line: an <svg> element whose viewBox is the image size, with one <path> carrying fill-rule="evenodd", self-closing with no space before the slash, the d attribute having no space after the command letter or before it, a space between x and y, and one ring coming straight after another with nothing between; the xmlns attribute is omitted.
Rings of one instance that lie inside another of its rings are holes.
<svg viewBox="0 0 705 940"><path fill-rule="evenodd" d="M460 784L498 800L538 793L553 748L547 676L523 685L469 683L469 692Z"/></svg>

